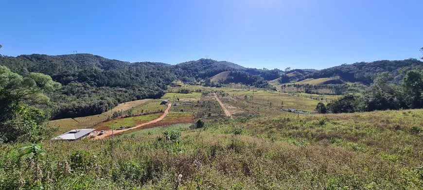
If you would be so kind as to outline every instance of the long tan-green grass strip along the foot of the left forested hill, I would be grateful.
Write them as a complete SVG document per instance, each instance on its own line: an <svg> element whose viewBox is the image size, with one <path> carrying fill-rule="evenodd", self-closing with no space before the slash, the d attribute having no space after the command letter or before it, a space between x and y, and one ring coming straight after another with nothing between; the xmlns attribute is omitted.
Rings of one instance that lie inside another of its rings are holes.
<svg viewBox="0 0 423 190"><path fill-rule="evenodd" d="M144 99L144 100L137 100L132 102L126 102L117 105L113 110L104 112L99 115L93 115L93 116L87 116L87 117L81 117L81 118L67 118L67 119L61 119L61 120L53 120L50 121L49 124L52 126L59 126L59 131L57 131L55 134L62 134L65 132L68 132L72 129L83 129L83 128L90 128L93 125L103 122L107 120L108 117L111 117L113 115L113 111L127 111L129 109L132 109L134 107L137 107L141 104L145 104L147 102L151 101L151 99Z"/></svg>

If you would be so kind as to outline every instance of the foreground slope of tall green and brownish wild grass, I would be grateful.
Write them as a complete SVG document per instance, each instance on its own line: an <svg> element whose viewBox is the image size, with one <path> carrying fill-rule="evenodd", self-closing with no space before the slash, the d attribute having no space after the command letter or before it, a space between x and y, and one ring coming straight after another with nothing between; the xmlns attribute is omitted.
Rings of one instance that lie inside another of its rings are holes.
<svg viewBox="0 0 423 190"><path fill-rule="evenodd" d="M423 110L283 112L172 125L170 140L162 127L45 141L33 158L1 144L0 189L422 190L422 125Z"/></svg>

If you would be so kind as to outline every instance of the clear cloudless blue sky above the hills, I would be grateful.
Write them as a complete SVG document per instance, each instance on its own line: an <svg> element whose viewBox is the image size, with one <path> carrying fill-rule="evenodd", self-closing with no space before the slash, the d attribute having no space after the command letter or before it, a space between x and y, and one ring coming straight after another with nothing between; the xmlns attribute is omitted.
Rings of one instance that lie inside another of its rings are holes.
<svg viewBox="0 0 423 190"><path fill-rule="evenodd" d="M5 0L0 54L324 69L418 58L423 0Z"/></svg>

